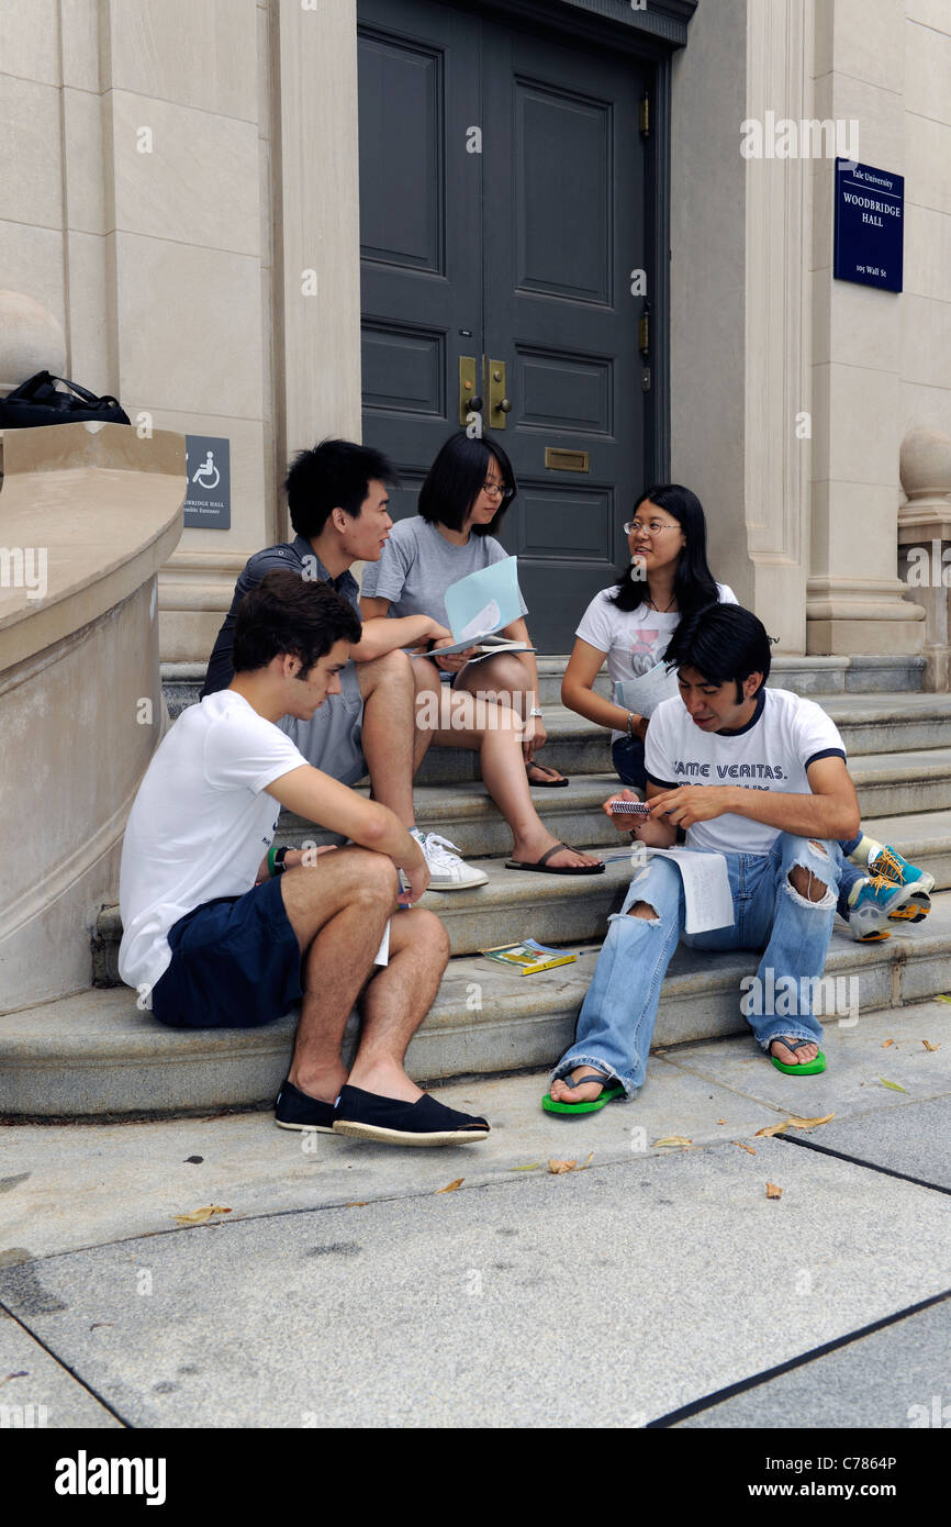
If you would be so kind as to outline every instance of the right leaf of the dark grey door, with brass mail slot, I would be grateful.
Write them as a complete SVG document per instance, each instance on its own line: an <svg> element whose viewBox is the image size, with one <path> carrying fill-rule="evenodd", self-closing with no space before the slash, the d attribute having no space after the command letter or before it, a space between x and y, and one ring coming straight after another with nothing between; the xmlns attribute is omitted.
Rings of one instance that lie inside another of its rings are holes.
<svg viewBox="0 0 951 1527"><path fill-rule="evenodd" d="M620 525L643 473L629 276L646 260L643 79L632 60L502 26L482 47L485 337L508 362L501 440L519 478L501 539L519 556L536 644L565 652L626 554ZM546 467L546 446L586 450L589 470Z"/></svg>

